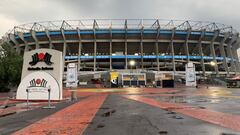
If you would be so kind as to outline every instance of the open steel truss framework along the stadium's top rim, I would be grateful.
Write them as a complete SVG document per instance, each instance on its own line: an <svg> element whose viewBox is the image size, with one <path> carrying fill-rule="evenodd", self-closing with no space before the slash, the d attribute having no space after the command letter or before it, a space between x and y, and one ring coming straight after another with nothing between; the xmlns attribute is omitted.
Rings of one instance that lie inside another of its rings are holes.
<svg viewBox="0 0 240 135"><path fill-rule="evenodd" d="M76 29L176 29L193 31L219 31L220 33L238 33L232 26L203 21L163 20L163 19L82 19L44 21L15 26L8 33L45 31L47 30L76 30Z"/></svg>

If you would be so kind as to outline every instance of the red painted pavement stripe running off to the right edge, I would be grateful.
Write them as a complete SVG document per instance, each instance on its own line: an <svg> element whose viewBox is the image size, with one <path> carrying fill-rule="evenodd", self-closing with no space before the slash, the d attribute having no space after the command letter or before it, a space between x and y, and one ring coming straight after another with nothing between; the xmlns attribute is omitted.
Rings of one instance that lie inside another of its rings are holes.
<svg viewBox="0 0 240 135"><path fill-rule="evenodd" d="M231 115L222 112L216 112L207 109L199 109L193 106L183 105L179 103L159 102L151 98L142 96L124 96L128 99L146 103L155 107L159 107L173 112L181 113L196 119L200 119L212 124L220 125L236 131L240 131L240 116Z"/></svg>

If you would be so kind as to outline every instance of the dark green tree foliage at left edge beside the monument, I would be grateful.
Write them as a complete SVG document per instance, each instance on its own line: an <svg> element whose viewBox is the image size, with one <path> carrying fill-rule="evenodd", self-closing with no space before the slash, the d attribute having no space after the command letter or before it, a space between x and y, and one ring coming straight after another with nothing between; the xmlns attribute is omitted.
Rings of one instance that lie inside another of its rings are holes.
<svg viewBox="0 0 240 135"><path fill-rule="evenodd" d="M20 83L22 63L22 56L10 44L0 46L0 92L8 91Z"/></svg>

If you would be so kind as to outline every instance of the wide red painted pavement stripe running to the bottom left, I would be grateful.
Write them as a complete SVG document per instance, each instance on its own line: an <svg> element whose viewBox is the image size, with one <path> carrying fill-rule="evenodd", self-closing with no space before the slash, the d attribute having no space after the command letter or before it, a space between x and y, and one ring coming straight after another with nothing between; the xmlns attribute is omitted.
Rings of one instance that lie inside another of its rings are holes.
<svg viewBox="0 0 240 135"><path fill-rule="evenodd" d="M13 135L81 135L106 97L106 94L90 96L15 132Z"/></svg>

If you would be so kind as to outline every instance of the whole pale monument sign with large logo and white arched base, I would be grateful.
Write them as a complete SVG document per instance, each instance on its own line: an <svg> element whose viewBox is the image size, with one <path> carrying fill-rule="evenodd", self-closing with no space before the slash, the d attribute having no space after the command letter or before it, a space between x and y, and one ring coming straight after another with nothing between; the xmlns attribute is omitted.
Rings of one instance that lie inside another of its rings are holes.
<svg viewBox="0 0 240 135"><path fill-rule="evenodd" d="M47 81L48 85L46 85L46 87L50 87L51 91L53 92L51 92L51 100L61 100L63 74L62 52L53 49L36 49L25 52L23 58L22 78L17 90L16 99L26 100L26 95L23 95L26 93L22 92L26 91L28 87L34 86L29 84L29 82L32 81L31 83L38 84L40 81L41 83L46 83L45 81ZM53 80L55 80L55 83L53 83ZM42 85L40 86L41 87L38 88L41 88L39 91L42 92L43 87ZM36 88L34 89L36 90ZM54 95L58 92L58 95ZM29 96L29 100L48 100L48 98L45 96L46 95L39 94L39 92L37 92L37 94L36 92L33 92L33 94ZM52 97L54 98L52 99Z"/></svg>

